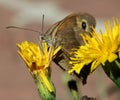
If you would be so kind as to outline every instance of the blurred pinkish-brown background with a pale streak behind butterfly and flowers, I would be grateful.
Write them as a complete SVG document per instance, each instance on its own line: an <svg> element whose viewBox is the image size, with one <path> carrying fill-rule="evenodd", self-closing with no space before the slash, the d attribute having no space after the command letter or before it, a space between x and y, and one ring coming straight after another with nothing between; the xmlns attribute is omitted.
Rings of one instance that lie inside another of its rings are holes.
<svg viewBox="0 0 120 100"><path fill-rule="evenodd" d="M0 100L39 100L34 80L26 65L18 56L16 43L28 40L38 43L39 34L18 29L6 29L14 25L41 32L42 15L45 15L44 32L57 21L74 12L87 12L97 20L97 29L103 29L103 21L120 18L119 0L0 0ZM52 80L57 91L56 100L72 100L64 74L53 63ZM97 100L120 100L119 92L111 91L114 83L101 68L88 77L81 87L81 94Z"/></svg>

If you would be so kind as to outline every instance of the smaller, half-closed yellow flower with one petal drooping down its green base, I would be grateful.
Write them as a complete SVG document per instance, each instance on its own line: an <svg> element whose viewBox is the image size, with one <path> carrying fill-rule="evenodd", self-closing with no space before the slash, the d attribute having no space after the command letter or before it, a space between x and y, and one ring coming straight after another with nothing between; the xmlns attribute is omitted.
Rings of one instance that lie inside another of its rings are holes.
<svg viewBox="0 0 120 100"><path fill-rule="evenodd" d="M53 46L48 46L47 43L43 42L40 48L37 44L29 43L27 41L17 44L17 46L20 49L18 53L25 61L31 74L40 77L48 90L53 92L47 74L50 73L48 72L48 69L52 57L60 50L60 47L54 50Z"/></svg>

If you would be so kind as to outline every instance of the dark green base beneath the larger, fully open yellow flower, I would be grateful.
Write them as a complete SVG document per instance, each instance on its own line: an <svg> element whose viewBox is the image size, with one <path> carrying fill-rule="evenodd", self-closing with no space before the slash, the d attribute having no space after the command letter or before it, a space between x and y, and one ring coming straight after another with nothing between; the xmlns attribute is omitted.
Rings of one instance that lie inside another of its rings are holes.
<svg viewBox="0 0 120 100"><path fill-rule="evenodd" d="M120 59L116 59L113 62L106 62L102 66L107 76L120 88Z"/></svg>

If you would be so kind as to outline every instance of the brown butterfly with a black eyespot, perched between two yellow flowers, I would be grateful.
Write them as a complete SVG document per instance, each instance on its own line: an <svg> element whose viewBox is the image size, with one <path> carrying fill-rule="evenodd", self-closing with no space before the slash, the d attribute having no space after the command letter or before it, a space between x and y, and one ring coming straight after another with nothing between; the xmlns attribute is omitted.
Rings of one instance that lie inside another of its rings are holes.
<svg viewBox="0 0 120 100"><path fill-rule="evenodd" d="M74 13L54 24L41 38L49 44L52 43L55 47L62 45L62 49L57 53L54 62L63 70L69 70L71 68L69 64L71 50L84 44L80 34L89 34L95 25L96 21L92 15ZM89 70L84 72L83 69L83 74L75 73L75 75L84 78L83 83L85 83L88 73Z"/></svg>

